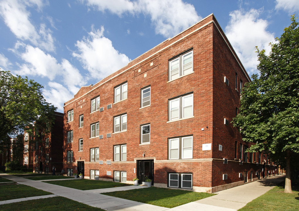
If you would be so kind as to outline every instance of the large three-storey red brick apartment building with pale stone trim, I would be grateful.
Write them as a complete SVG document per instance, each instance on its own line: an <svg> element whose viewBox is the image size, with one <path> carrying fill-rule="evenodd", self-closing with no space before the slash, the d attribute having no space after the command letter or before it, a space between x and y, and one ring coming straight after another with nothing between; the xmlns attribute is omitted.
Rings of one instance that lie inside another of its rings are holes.
<svg viewBox="0 0 299 211"><path fill-rule="evenodd" d="M251 143L231 123L246 82L211 14L64 104L64 168L197 192L272 175L264 155L244 153Z"/></svg>

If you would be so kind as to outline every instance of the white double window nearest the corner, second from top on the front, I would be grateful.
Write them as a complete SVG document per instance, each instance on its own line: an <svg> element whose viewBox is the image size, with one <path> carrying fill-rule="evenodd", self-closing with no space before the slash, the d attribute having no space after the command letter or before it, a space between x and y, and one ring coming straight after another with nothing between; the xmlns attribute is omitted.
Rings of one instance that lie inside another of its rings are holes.
<svg viewBox="0 0 299 211"><path fill-rule="evenodd" d="M184 105L184 103L185 103L184 99L186 99L188 97L192 97L192 105L185 106ZM173 104L175 102L178 102L178 104L179 104L178 106L176 105L176 107L173 106ZM187 115L185 116L184 115L184 108L187 108L187 107L190 107L190 106L192 107L192 114L188 115L188 116ZM168 100L168 119L169 119L169 121L180 120L180 119L184 119L184 118L187 118L187 117L192 117L193 116L193 107L194 107L193 93L185 94L185 95L182 95L182 96L179 96L179 97ZM172 112L176 111L176 110L178 110L179 116L172 117Z"/></svg>

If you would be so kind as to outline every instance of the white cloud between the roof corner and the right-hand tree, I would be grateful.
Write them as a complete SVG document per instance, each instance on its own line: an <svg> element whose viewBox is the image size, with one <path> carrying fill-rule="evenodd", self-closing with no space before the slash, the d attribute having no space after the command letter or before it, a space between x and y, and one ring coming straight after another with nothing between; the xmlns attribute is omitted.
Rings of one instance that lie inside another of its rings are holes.
<svg viewBox="0 0 299 211"><path fill-rule="evenodd" d="M258 19L261 10L251 9L248 12L235 10L229 15L231 20L225 27L225 33L234 47L249 75L257 73L257 53L255 46L270 52L270 42L274 42L274 33L267 31L269 23Z"/></svg>

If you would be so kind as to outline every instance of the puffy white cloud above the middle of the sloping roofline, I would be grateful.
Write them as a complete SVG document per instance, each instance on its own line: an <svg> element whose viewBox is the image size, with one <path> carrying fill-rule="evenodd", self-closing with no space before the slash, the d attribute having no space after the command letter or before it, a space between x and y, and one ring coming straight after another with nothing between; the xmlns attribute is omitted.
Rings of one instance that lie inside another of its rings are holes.
<svg viewBox="0 0 299 211"><path fill-rule="evenodd" d="M83 37L81 41L77 41L78 52L73 53L95 79L103 79L130 61L125 54L115 50L111 40L104 37L103 32L104 27L101 30L94 30L92 27L88 38Z"/></svg>

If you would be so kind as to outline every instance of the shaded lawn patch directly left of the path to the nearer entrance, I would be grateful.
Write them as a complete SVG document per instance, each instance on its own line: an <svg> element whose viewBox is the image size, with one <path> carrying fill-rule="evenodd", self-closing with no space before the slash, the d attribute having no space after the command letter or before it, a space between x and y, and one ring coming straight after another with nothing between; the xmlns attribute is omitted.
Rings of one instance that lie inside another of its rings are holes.
<svg viewBox="0 0 299 211"><path fill-rule="evenodd" d="M56 176L55 176L56 177ZM119 183L119 182L107 182L101 180L85 180L85 179L74 179L74 180L63 180L63 181L44 181L46 183L65 186L69 188L75 188L79 190L92 190L102 188L114 188L120 186L128 186L130 184Z"/></svg>

